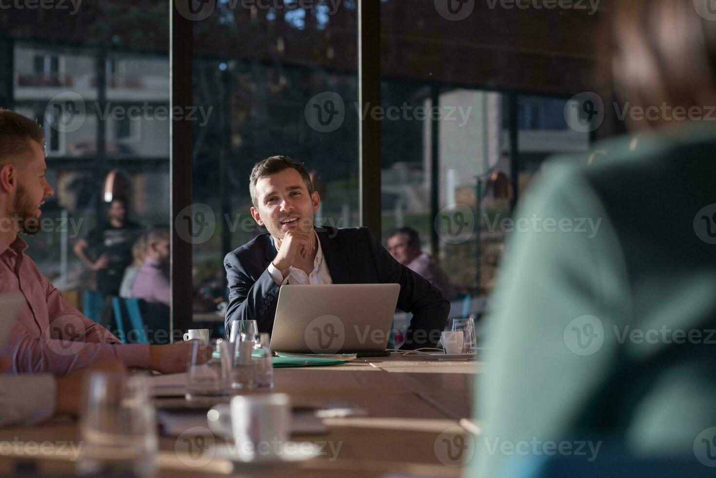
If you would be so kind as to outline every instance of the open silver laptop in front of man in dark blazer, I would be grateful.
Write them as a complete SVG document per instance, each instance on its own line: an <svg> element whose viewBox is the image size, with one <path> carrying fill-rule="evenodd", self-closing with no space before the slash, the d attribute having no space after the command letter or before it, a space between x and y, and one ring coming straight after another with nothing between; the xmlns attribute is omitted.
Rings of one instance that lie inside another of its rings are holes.
<svg viewBox="0 0 716 478"><path fill-rule="evenodd" d="M276 302L271 350L385 350L399 292L399 284L284 285Z"/></svg>

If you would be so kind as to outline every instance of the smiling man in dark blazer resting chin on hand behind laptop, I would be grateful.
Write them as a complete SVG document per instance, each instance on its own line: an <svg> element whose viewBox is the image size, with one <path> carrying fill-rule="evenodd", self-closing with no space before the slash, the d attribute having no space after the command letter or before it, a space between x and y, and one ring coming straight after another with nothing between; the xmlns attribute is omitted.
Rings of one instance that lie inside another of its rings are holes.
<svg viewBox="0 0 716 478"><path fill-rule="evenodd" d="M404 349L434 347L450 303L420 275L397 262L365 227L314 228L320 198L303 164L272 156L249 178L251 215L261 234L226 254L226 335L233 320L256 320L271 332L284 284L400 284L397 307L412 312Z"/></svg>

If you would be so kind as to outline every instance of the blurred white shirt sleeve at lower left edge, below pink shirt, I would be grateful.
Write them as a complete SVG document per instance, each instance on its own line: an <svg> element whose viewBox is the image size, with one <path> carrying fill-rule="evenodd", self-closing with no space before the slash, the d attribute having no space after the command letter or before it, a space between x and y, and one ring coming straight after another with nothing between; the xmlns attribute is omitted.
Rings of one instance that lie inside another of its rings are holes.
<svg viewBox="0 0 716 478"><path fill-rule="evenodd" d="M29 425L54 414L51 375L0 374L0 426Z"/></svg>

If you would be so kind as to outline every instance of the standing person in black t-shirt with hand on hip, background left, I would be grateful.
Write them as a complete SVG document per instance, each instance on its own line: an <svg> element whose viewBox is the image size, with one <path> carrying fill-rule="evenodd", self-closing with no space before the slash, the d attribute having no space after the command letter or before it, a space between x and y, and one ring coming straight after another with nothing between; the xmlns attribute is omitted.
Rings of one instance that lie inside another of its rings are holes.
<svg viewBox="0 0 716 478"><path fill-rule="evenodd" d="M74 253L97 272L97 290L119 295L125 269L132 264L132 245L142 229L127 220L127 201L115 198L107 209L107 222L74 244ZM93 259L94 258L94 259Z"/></svg>

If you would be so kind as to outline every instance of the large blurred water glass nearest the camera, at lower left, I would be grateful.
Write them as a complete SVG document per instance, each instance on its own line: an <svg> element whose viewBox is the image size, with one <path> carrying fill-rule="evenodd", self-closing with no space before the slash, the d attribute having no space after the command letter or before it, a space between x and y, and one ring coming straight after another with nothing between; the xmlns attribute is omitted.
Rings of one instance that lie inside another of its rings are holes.
<svg viewBox="0 0 716 478"><path fill-rule="evenodd" d="M149 477L156 471L158 439L146 376L92 373L84 381L79 419L80 474Z"/></svg>

